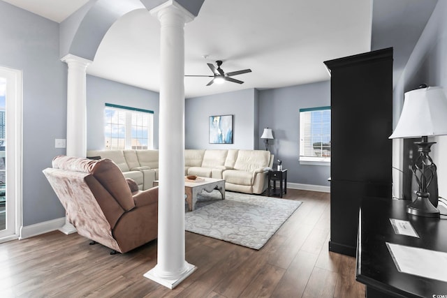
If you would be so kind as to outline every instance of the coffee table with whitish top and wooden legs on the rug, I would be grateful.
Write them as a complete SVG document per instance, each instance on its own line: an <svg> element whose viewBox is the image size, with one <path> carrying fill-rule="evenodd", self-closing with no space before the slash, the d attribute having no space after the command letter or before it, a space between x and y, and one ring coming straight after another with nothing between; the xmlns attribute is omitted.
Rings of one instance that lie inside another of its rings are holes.
<svg viewBox="0 0 447 298"><path fill-rule="evenodd" d="M154 186L159 185L159 181L153 182ZM184 192L186 193L186 202L188 203L189 211L193 211L197 202L197 195L202 191L211 193L217 190L222 195L222 200L225 200L225 180L214 179L207 177L198 177L196 180L184 181Z"/></svg>

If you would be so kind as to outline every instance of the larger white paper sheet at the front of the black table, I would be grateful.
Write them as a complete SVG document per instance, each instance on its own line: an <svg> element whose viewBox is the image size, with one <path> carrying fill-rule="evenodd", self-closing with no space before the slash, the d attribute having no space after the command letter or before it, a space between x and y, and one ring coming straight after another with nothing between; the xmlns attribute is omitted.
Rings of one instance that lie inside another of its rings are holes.
<svg viewBox="0 0 447 298"><path fill-rule="evenodd" d="M447 283L447 253L386 242L397 270Z"/></svg>

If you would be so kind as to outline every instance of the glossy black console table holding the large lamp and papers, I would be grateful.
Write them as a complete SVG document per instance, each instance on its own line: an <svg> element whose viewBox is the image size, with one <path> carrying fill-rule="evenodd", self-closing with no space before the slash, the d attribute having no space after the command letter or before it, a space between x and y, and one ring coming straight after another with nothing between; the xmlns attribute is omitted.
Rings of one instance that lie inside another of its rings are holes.
<svg viewBox="0 0 447 298"><path fill-rule="evenodd" d="M397 271L388 251L386 242L447 252L447 219L406 214L407 204L382 198L362 200L356 279L366 285L368 298L447 297L446 282ZM395 234L390 218L410 221L420 238Z"/></svg>

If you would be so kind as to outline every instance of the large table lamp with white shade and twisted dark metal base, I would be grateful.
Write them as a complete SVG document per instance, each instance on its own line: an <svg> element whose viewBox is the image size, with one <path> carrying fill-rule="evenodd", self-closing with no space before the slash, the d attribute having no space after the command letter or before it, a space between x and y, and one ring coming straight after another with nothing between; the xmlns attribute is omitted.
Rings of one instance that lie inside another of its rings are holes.
<svg viewBox="0 0 447 298"><path fill-rule="evenodd" d="M406 212L417 216L439 217L439 210L430 202L428 186L437 179L437 166L430 157L429 136L447 135L447 98L441 87L427 87L408 91L404 96L404 107L395 131L390 139L422 137L414 142L418 147L418 158L411 170L418 183L417 198L406 207Z"/></svg>

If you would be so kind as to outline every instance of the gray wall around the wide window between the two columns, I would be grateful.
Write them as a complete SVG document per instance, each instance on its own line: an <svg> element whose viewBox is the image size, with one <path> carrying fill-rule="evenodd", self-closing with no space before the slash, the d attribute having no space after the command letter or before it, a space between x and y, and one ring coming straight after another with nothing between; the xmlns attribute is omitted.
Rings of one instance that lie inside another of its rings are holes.
<svg viewBox="0 0 447 298"><path fill-rule="evenodd" d="M105 103L154 111L154 149L159 148L159 94L87 75L87 150L104 149Z"/></svg>

